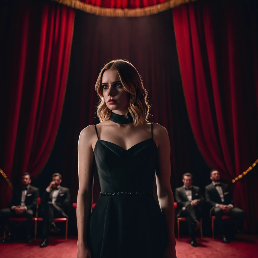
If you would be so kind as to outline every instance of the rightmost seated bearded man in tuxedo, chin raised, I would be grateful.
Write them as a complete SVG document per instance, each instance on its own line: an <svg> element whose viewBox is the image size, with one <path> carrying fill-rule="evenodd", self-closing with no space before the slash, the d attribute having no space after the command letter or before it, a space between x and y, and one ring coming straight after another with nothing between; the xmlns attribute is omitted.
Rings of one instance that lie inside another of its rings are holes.
<svg viewBox="0 0 258 258"><path fill-rule="evenodd" d="M234 207L234 198L227 184L220 182L220 173L217 170L210 172L212 183L205 187L205 198L210 205L210 216L216 217L216 222L221 233L223 233L222 241L229 243L227 232L225 232L221 217L228 215L234 217L238 221L239 229L243 226L245 212Z"/></svg>

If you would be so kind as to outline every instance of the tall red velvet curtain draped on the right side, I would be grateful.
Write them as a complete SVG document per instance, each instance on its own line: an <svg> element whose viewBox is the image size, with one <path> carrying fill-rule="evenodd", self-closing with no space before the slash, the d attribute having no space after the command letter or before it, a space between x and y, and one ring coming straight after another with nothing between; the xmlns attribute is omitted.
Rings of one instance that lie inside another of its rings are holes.
<svg viewBox="0 0 258 258"><path fill-rule="evenodd" d="M216 1L173 10L192 131L207 163L228 181L258 158L256 7ZM257 196L255 179L252 171L235 183L235 204L245 210L249 229L258 219L250 199Z"/></svg>

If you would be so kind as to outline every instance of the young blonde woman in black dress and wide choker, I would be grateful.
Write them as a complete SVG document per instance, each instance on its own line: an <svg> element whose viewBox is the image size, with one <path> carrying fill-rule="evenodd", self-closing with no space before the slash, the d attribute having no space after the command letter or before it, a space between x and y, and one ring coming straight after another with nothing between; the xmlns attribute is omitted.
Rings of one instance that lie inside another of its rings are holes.
<svg viewBox="0 0 258 258"><path fill-rule="evenodd" d="M175 258L167 130L148 122L148 93L130 62L107 63L95 90L101 123L78 142L77 258ZM94 167L101 193L91 213Z"/></svg>

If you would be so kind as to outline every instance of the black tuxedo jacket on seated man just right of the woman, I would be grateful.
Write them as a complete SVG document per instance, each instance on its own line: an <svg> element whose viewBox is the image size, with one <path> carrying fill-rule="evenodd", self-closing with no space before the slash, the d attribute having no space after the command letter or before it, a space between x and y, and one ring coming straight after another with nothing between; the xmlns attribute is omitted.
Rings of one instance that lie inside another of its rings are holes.
<svg viewBox="0 0 258 258"><path fill-rule="evenodd" d="M200 192L200 187L198 186L192 186L192 200L195 200L195 199L200 199L198 204L199 207L203 205L205 202ZM186 191L183 186L176 188L175 201L178 204L178 214L180 214L181 209L189 203L189 200L187 199L187 196L186 196Z"/></svg>

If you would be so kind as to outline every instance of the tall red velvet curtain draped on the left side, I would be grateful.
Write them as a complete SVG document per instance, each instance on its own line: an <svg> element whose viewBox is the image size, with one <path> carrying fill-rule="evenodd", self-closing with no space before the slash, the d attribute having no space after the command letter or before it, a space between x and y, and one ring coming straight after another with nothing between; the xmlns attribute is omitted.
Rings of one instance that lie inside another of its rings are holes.
<svg viewBox="0 0 258 258"><path fill-rule="evenodd" d="M26 2L1 8L0 167L15 183L42 170L57 135L74 26L74 10ZM1 207L8 202L1 180Z"/></svg>

